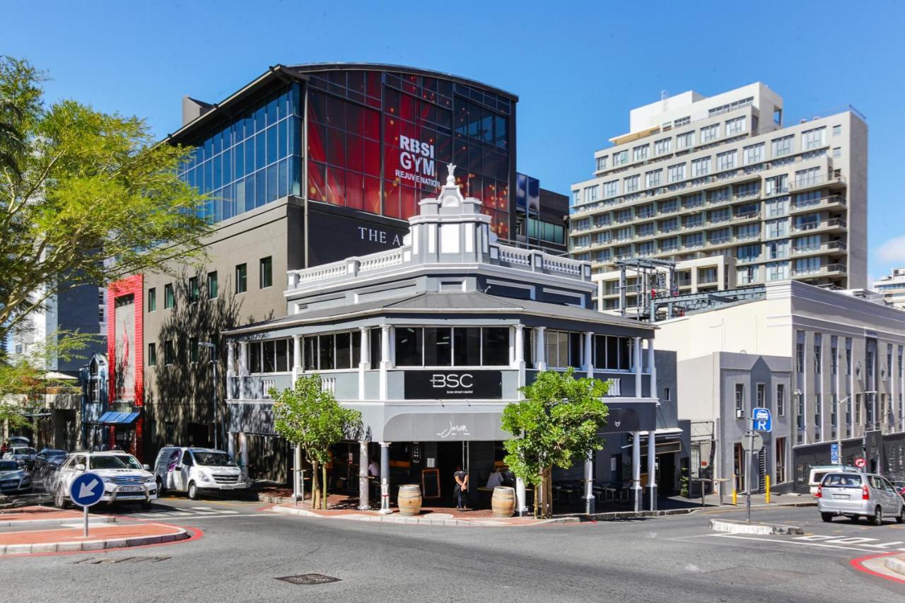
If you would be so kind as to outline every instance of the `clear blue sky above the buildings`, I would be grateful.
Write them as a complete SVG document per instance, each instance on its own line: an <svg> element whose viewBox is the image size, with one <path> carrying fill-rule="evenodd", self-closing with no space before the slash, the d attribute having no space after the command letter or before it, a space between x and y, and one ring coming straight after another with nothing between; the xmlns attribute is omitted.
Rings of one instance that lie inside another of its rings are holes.
<svg viewBox="0 0 905 603"><path fill-rule="evenodd" d="M48 97L178 128L184 94L220 101L281 62L392 62L519 95L519 171L567 193L628 111L764 81L786 122L851 103L870 127L870 274L905 266L905 4L852 2L42 2L6 0L0 53Z"/></svg>

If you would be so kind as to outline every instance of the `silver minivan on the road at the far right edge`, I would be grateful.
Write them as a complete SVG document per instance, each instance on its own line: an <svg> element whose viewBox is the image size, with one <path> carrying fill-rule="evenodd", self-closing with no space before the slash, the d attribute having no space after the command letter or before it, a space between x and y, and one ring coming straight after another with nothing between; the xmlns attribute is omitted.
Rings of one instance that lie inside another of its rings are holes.
<svg viewBox="0 0 905 603"><path fill-rule="evenodd" d="M832 522L836 515L854 522L867 517L873 525L881 525L884 517L905 522L905 500L881 475L829 473L814 496L824 522Z"/></svg>

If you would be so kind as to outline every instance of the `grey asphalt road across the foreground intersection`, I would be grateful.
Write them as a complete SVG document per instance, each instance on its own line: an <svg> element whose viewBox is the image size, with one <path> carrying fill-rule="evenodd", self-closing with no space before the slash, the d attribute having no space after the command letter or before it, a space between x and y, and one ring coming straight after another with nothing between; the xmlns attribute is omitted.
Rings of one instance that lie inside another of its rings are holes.
<svg viewBox="0 0 905 603"><path fill-rule="evenodd" d="M901 601L905 585L850 560L905 547L905 525L823 523L813 508L756 510L805 537L729 537L740 512L471 528L312 520L262 503L166 498L130 516L195 527L195 541L101 554L0 559L5 597L26 601ZM840 539L846 539L840 541ZM872 539L872 540L866 540ZM895 544L899 542L898 544ZM892 544L891 544L892 543ZM116 562L114 562L116 561ZM277 578L319 573L338 582Z"/></svg>

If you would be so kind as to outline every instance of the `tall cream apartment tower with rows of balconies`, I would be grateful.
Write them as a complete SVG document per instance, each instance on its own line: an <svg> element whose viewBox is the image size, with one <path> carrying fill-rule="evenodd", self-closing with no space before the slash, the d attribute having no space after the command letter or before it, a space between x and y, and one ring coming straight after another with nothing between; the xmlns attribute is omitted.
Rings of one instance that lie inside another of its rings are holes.
<svg viewBox="0 0 905 603"><path fill-rule="evenodd" d="M867 123L851 106L783 118L761 82L631 110L569 207L569 251L592 263L604 309L618 307L615 262L635 257L676 262L679 293L866 286Z"/></svg>

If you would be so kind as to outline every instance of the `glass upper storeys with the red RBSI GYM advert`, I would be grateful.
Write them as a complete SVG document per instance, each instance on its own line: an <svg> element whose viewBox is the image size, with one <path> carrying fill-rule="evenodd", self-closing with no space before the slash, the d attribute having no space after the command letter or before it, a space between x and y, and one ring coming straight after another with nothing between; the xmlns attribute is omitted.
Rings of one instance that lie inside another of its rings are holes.
<svg viewBox="0 0 905 603"><path fill-rule="evenodd" d="M439 191L453 163L462 192L480 198L494 232L508 238L518 99L399 69L281 67L290 78L250 84L241 109L205 106L197 127L190 122L170 137L195 147L181 175L211 196L205 217L219 222L306 196L405 220Z"/></svg>

